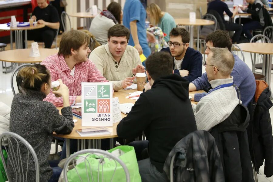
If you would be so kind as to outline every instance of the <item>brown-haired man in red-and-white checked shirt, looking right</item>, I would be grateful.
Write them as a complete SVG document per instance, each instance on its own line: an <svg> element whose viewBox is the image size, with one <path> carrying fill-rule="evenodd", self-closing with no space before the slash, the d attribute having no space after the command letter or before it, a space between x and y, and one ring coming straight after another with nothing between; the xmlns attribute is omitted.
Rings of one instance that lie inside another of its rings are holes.
<svg viewBox="0 0 273 182"><path fill-rule="evenodd" d="M91 52L89 42L89 36L82 31L64 32L58 54L48 56L41 63L50 71L51 82L62 79L62 83L69 88L70 105L82 102L81 82L108 82L88 59ZM56 107L63 106L62 97L56 97L52 89L44 100Z"/></svg>

